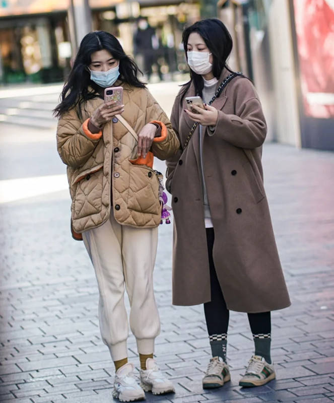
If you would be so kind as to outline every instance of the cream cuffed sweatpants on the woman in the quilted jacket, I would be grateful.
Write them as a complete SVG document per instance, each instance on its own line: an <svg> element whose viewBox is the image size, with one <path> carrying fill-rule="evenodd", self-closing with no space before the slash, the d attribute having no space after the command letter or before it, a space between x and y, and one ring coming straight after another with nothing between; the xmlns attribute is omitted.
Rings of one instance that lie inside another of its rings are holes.
<svg viewBox="0 0 334 403"><path fill-rule="evenodd" d="M154 339L160 333L153 292L158 228L122 226L111 214L106 223L82 235L99 287L101 336L113 361L127 357L124 286L131 307L130 328L136 337L138 352L152 354Z"/></svg>

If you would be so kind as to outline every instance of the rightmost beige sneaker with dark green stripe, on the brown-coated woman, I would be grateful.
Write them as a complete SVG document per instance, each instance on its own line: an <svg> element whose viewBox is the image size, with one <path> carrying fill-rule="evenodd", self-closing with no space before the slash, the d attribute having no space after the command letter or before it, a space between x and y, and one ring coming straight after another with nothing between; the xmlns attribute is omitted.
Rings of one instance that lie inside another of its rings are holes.
<svg viewBox="0 0 334 403"><path fill-rule="evenodd" d="M252 356L239 385L244 387L261 386L275 379L275 377L273 364L268 364L261 356Z"/></svg>

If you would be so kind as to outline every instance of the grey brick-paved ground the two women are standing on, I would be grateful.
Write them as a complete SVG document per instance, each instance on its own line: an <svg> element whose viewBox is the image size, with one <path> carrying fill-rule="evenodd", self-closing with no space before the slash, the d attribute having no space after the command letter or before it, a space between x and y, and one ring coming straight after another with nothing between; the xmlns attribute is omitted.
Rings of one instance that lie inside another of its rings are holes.
<svg viewBox="0 0 334 403"><path fill-rule="evenodd" d="M334 401L334 154L264 146L265 185L292 306L273 313L277 380L238 386L252 353L245 314L231 313L232 382L205 391L210 358L202 306L171 305L171 230L160 228L156 355L176 393L167 403ZM69 234L68 192L0 205L0 401L111 402L113 364L100 339L97 286L82 243ZM135 341L130 361L138 367Z"/></svg>

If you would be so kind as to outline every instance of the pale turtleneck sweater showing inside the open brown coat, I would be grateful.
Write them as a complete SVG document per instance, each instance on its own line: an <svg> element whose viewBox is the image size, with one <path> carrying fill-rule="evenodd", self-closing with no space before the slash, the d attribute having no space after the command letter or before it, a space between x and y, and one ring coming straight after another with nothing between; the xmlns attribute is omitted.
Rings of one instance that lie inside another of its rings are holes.
<svg viewBox="0 0 334 403"><path fill-rule="evenodd" d="M214 77L212 80L204 80L203 88L203 101L207 104L211 101L215 95L218 80ZM210 129L210 127L209 127ZM201 172L202 172L202 186L203 186L203 203L204 203L204 221L206 228L212 228L210 205L207 193L207 187L205 184L204 168L203 168L203 139L204 139L205 127L199 125L199 156L201 158Z"/></svg>

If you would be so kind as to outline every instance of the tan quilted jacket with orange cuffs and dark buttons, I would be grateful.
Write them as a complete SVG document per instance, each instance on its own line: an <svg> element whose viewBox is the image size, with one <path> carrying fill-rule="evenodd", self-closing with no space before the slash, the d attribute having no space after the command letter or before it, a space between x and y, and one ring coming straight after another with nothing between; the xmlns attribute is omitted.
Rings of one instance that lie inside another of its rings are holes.
<svg viewBox="0 0 334 403"><path fill-rule="evenodd" d="M100 226L111 208L119 224L156 227L161 218L159 180L152 168L129 161L137 155L135 138L117 118L97 134L88 129L89 117L102 102L100 97L87 101L81 119L71 109L58 121L57 150L68 166L73 229L81 233ZM153 120L165 125L164 135L152 144L156 157L165 160L176 153L179 141L171 123L147 89L123 85L123 104L122 117L137 133Z"/></svg>

